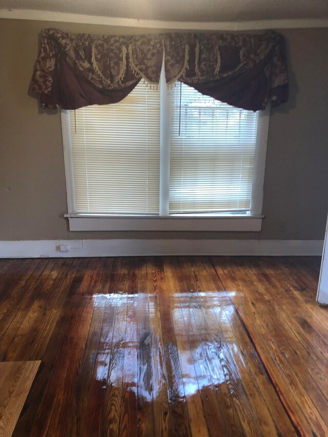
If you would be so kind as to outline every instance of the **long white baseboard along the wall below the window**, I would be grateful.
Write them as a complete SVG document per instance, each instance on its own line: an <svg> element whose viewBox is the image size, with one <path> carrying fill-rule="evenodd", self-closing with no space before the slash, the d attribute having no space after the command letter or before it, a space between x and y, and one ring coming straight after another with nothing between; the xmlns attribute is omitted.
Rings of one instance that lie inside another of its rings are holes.
<svg viewBox="0 0 328 437"><path fill-rule="evenodd" d="M60 252L60 245L69 246ZM0 241L0 258L156 255L322 255L323 240L20 240Z"/></svg>

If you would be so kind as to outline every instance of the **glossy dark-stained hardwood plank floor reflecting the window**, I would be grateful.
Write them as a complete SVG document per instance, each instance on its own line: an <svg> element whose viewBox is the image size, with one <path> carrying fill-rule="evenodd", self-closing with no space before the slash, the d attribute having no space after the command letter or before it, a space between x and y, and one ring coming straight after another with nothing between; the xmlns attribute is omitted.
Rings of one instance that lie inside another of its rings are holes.
<svg viewBox="0 0 328 437"><path fill-rule="evenodd" d="M5 362L36 372L15 419L10 396L25 383L11 389L0 373L0 435L11 435L8 417L14 436L328 435L319 267L310 257L0 260L0 372Z"/></svg>

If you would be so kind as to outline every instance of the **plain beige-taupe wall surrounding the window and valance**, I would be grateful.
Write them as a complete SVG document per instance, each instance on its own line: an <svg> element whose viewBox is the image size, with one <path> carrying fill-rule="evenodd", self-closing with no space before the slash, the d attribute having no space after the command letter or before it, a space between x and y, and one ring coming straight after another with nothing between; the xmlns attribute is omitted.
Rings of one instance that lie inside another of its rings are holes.
<svg viewBox="0 0 328 437"><path fill-rule="evenodd" d="M260 233L72 233L68 231L60 116L27 89L38 33L140 29L0 20L0 240L66 238L321 239L328 209L328 29L286 36L290 101L271 111ZM149 32L149 30L148 30Z"/></svg>

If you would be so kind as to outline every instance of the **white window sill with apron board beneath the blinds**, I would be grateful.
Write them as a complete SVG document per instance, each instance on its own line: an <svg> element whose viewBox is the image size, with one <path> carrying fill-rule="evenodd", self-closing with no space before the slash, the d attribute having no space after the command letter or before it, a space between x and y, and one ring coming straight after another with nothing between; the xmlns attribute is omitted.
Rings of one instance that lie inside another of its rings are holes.
<svg viewBox="0 0 328 437"><path fill-rule="evenodd" d="M100 216L66 214L70 231L220 231L259 232L263 216Z"/></svg>

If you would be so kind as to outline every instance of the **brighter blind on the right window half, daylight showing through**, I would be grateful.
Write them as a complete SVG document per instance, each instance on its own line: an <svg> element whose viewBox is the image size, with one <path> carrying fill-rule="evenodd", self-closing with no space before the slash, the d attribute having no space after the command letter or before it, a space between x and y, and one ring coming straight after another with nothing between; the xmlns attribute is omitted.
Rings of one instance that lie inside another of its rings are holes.
<svg viewBox="0 0 328 437"><path fill-rule="evenodd" d="M258 113L177 84L172 95L170 214L250 210L257 122Z"/></svg>

